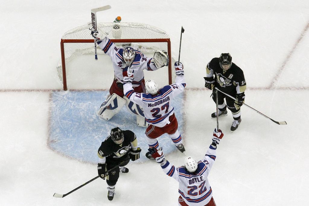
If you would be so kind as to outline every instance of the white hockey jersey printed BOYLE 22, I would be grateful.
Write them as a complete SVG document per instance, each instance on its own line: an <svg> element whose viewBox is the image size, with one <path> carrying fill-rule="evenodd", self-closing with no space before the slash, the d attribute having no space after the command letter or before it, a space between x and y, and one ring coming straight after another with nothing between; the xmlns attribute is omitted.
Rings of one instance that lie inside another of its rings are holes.
<svg viewBox="0 0 309 206"><path fill-rule="evenodd" d="M179 182L178 192L188 205L206 205L211 197L212 190L208 182L208 174L216 159L216 148L210 145L205 157L197 162L197 170L188 172L184 166L176 168L168 161L161 165L163 171Z"/></svg>

